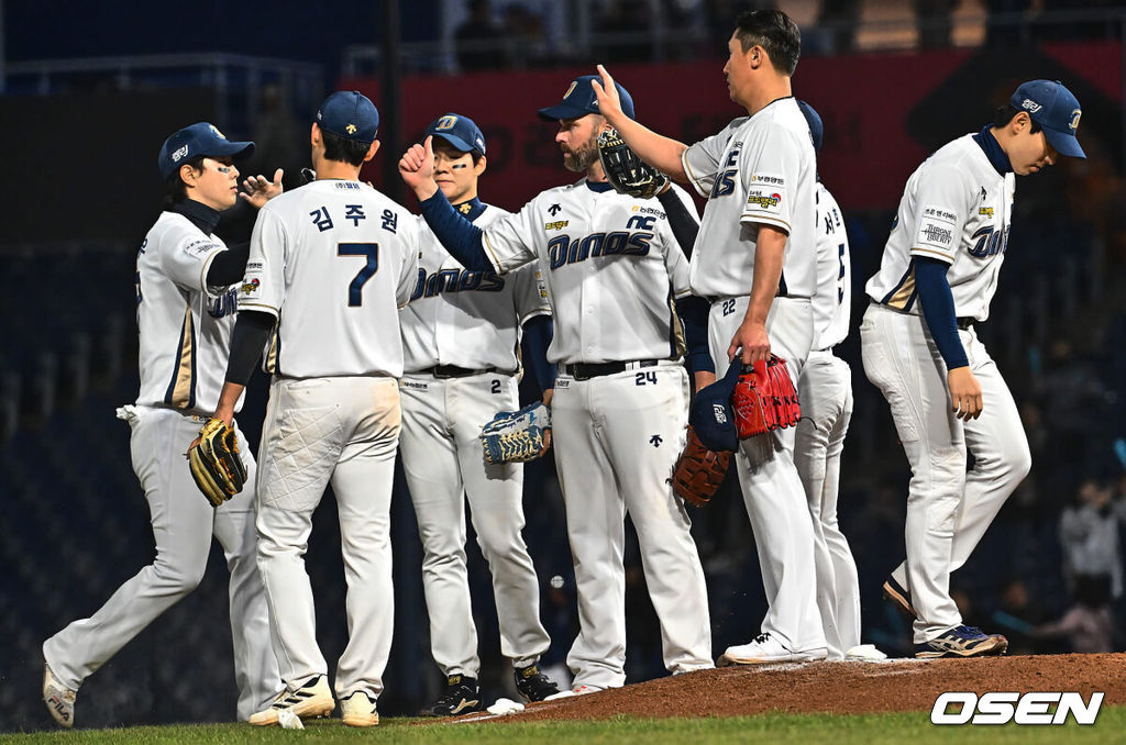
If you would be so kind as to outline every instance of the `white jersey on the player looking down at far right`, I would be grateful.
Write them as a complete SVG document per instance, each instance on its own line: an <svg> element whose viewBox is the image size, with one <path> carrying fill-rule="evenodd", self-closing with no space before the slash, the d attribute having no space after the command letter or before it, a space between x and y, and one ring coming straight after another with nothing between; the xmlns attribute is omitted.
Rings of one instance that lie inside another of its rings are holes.
<svg viewBox="0 0 1126 745"><path fill-rule="evenodd" d="M913 257L950 264L946 273L958 317L985 321L1009 243L1016 177L1001 176L973 135L958 137L908 179L872 299L919 314Z"/></svg>

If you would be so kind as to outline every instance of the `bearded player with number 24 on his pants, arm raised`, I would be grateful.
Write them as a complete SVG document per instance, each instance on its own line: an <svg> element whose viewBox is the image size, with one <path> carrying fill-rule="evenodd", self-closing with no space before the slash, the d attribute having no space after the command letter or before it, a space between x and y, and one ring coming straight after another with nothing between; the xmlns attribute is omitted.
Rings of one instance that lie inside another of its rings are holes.
<svg viewBox="0 0 1126 745"><path fill-rule="evenodd" d="M558 123L564 165L586 178L539 194L483 230L438 194L431 140L400 161L427 223L463 266L506 275L538 260L552 298L555 335L547 357L558 376L545 401L580 620L566 694L625 682L626 512L637 529L665 666L673 673L712 666L704 572L683 504L667 483L683 447L689 393L678 314L688 316L690 347L703 324L704 307L692 309L688 266L674 237L681 222L695 227L695 216L680 189L665 191L661 201L611 190L598 160L606 122L590 80L579 78L561 102L539 110ZM622 98L632 114L624 89ZM674 305L673 298L681 299ZM698 338L697 363L706 360L703 333Z"/></svg>

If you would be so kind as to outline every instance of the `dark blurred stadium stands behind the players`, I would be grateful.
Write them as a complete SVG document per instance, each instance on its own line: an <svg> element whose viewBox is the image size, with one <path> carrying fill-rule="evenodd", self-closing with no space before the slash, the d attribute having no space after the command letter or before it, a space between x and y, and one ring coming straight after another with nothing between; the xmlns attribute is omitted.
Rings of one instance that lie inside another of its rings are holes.
<svg viewBox="0 0 1126 745"><path fill-rule="evenodd" d="M643 91L635 93L640 104L664 101L658 96L662 89L667 95L669 80L682 90L683 80L706 71L701 79L706 84L698 88L711 99L711 109L692 109L696 118L689 119L676 105L663 107L668 111L650 105L641 110L643 119L650 111L665 116L665 131L680 136L711 132L713 122L738 114L718 88L715 57L735 7L748 3L623 3L643 11L637 18L646 23L640 30L610 36L596 29L602 14L618 3L586 0L563 19L556 8L570 3L522 3L525 11L540 16L537 26L535 19L518 17L512 10L517 3L493 2L498 27L524 24L521 33L534 39L529 47L526 38L513 41L502 34L501 46L495 47L504 50L497 55L499 62L525 68L519 74L534 77L521 80L536 81L536 87L522 90L511 111L504 108L511 105L497 100L512 98L502 88L510 68L502 75L448 77L457 69L455 32L467 6L453 0L415 5L418 12L438 12L441 21L429 37L403 45L403 66L411 74L400 104L404 133L410 136L421 129L436 107L447 106L443 90L453 101L500 107L499 114L485 114L486 119L497 117L486 134L491 147L498 143L495 162L491 150L490 176L483 181L486 200L495 191L504 195L499 204L518 207L538 188L522 178L526 173L547 183L568 178L558 168L557 153L544 142L546 131L527 124L531 109L556 96L573 72L587 72L593 61L606 59L598 55L615 45L636 52L632 62L622 64ZM1056 618L1070 602L1060 568L1061 511L1072 503L1079 484L1091 477L1115 485L1119 506L1126 499L1120 486L1126 483L1121 482L1126 296L1119 289L1126 281L1123 12L1063 11L1056 8L1064 3L1048 0L964 2L950 18L928 16L920 26L920 15L902 12L905 3L840 3L856 10L838 16L825 12L828 3L825 8L817 2L779 5L803 25L810 47L795 86L826 119L822 176L848 213L854 325L866 304L863 285L878 262L899 189L921 158L975 128L974 123L984 123L990 111L983 101L995 100L998 90L1011 90L1011 80L1061 77L1082 91L1080 138L1091 159L1019 180L993 316L980 326L1021 406L1033 473L969 564L955 575L972 622L1006 631L1006 619L1035 623ZM1001 10L991 16L986 6ZM726 14L722 17L721 7ZM949 29L944 37L948 48L920 51L923 37L930 38L936 28ZM7 29L9 35L17 30L11 23ZM341 38L343 44L349 37ZM8 47L12 48L11 42ZM536 54L520 54L526 50ZM50 724L38 698L44 638L92 612L152 559L148 508L129 465L128 430L115 420L114 409L133 401L137 389L132 277L136 245L157 214L159 181L152 164L160 142L178 126L204 118L230 127L231 136L254 136L260 143L265 138L259 133L280 133L277 140L293 150L279 145L276 152L289 154L263 163L265 170L285 158L304 156L310 113L337 72L342 82L377 90L377 81L368 78L378 61L378 50L372 45L338 44L322 52L336 55L336 61L319 62L310 62L307 54L300 61L279 60L276 50L254 50L262 56L143 51L46 62L25 56L5 66L0 122L6 131L25 135L0 146L7 149L5 162L20 165L20 194L12 196L0 231L0 277L7 285L0 293L6 332L0 347L0 474L5 476L0 555L8 568L0 580L0 630L7 640L0 645L2 731ZM564 70L533 70L549 65ZM647 79L653 70L660 74ZM852 77L834 83L832 74L839 70L852 71ZM879 77L896 71L906 75L904 70L930 72L920 73L912 89L890 86ZM546 82L539 86L539 81ZM883 98L872 104L876 97ZM376 100L381 109L391 106ZM865 129L865 107L875 111L877 133L887 129L891 135L894 129L903 143L888 144L878 134L873 140L872 131ZM36 131L27 131L28 111L42 123ZM263 122L262 111L272 119ZM59 142L79 146L75 152L59 147ZM877 155L890 160L869 154L881 147L886 153ZM401 150L402 143L384 143L379 158ZM864 158L854 158L856 153ZM886 191L893 197L870 188L879 179L888 182ZM82 213L74 201L92 206ZM909 628L879 601L878 587L902 558L906 463L887 406L864 377L856 334L841 354L852 366L856 413L846 442L840 519L859 565L865 640L903 652ZM256 450L265 387L260 376L252 382L245 414L240 416ZM560 665L577 620L554 465L529 466L526 481L525 535L543 585L543 617L553 637L544 662ZM745 640L765 610L750 528L734 481L729 479L712 506L692 517L708 575L714 644L722 650ZM387 690L379 702L387 715L417 711L439 685L427 638L421 551L401 477L393 523L395 639ZM309 568L318 592L319 637L325 656L334 659L346 629L331 496L323 501L314 524ZM488 569L475 544L470 556L485 694L511 697L510 667L499 657ZM627 560L638 566L635 548ZM556 576L561 582L552 586L548 581ZM636 571L627 576L627 672L633 682L663 670L644 578ZM1013 600L1021 592L1025 600ZM1124 610L1118 599L1119 649L1126 641ZM1046 644L1028 640L1026 648L1062 648ZM79 695L78 717L83 727L222 720L233 716L234 700L226 576L216 551L199 589L88 681Z"/></svg>

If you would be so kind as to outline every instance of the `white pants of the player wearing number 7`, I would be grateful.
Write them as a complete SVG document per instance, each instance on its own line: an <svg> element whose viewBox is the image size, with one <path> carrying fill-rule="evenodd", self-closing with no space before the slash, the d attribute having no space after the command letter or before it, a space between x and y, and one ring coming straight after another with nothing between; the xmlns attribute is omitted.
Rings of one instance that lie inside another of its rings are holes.
<svg viewBox="0 0 1126 745"><path fill-rule="evenodd" d="M262 427L258 566L270 635L291 690L328 673L316 645L305 550L313 511L330 483L348 585L348 645L336 693L383 692L391 650L391 490L399 446L399 384L386 377L275 377Z"/></svg>

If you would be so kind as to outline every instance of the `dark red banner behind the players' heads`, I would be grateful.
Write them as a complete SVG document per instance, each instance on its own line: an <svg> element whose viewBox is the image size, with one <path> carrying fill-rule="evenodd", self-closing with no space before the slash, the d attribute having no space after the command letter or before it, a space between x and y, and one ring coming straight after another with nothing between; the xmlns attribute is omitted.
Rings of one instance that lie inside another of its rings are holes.
<svg viewBox="0 0 1126 745"><path fill-rule="evenodd" d="M1105 97L1120 116L1123 55L1117 43L1054 44L1013 51L1003 60L998 64L997 52L974 50L802 60L794 92L812 104L825 123L819 169L842 207L894 208L908 177L928 153L988 123L993 108L1004 102L994 100L997 91L1012 90L1012 80L1065 79L1084 110L1088 104L1081 91L1089 91L1088 98ZM618 65L610 72L633 96L640 122L691 144L743 115L727 97L723 63L717 59ZM481 197L518 209L539 191L578 178L563 168L554 142L556 125L542 122L536 110L562 99L575 77L593 72L591 68L409 77L402 82L403 131L415 142L441 114L474 119L489 153ZM342 80L340 86L363 91L381 109L386 106L377 80ZM922 116L909 126L915 111ZM1088 128L1097 126L1090 118L1083 119ZM1120 136L1120 119L1103 126L1108 137ZM397 161L403 149L402 143L385 142L376 158ZM1117 151L1111 147L1111 152ZM365 177L378 185L379 171L369 167Z"/></svg>

